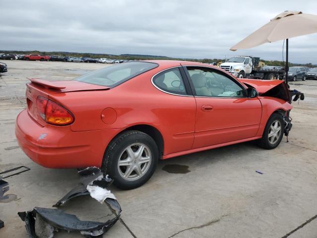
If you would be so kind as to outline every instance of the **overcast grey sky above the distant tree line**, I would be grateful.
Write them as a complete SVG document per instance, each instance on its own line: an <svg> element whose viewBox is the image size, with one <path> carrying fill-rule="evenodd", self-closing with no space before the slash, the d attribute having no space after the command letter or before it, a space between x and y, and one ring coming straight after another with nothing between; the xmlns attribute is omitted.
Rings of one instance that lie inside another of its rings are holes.
<svg viewBox="0 0 317 238"><path fill-rule="evenodd" d="M0 50L282 60L283 41L229 48L284 10L317 14L317 0L0 0ZM289 47L317 63L317 33Z"/></svg>

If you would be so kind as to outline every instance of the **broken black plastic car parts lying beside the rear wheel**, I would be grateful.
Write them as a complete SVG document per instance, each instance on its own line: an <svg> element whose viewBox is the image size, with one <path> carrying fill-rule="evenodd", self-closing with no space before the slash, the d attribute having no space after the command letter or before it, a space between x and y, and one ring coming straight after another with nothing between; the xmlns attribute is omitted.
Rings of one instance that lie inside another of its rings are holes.
<svg viewBox="0 0 317 238"><path fill-rule="evenodd" d="M121 207L115 196L107 190L112 179L104 177L100 169L89 167L78 172L81 182L57 201L53 207L60 207L74 197L90 195L100 203L105 203L112 219L106 222L82 221L76 215L65 213L61 209L35 207L32 211L19 212L18 215L25 222L30 238L52 238L54 232L80 232L85 237L98 237L108 231L120 218Z"/></svg>

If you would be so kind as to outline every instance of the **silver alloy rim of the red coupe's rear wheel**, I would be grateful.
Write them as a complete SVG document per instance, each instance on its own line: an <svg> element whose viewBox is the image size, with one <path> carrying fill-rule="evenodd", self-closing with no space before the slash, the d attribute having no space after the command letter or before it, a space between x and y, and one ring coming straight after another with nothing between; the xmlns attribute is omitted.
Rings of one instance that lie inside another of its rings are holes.
<svg viewBox="0 0 317 238"><path fill-rule="evenodd" d="M118 173L122 179L134 181L143 177L149 170L152 161L151 151L143 143L127 146L118 160Z"/></svg>

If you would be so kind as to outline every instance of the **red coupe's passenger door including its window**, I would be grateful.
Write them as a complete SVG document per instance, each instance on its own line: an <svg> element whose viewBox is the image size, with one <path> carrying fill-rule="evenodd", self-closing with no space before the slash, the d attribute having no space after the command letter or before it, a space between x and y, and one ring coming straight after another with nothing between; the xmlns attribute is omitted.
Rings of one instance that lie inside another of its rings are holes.
<svg viewBox="0 0 317 238"><path fill-rule="evenodd" d="M196 100L193 149L254 137L262 105L246 97L245 87L214 68L186 66Z"/></svg>

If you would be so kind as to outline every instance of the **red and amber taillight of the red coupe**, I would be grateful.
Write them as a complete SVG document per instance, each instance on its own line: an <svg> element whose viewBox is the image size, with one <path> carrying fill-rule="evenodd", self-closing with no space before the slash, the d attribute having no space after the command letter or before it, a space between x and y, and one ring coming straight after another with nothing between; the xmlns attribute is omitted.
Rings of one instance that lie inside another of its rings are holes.
<svg viewBox="0 0 317 238"><path fill-rule="evenodd" d="M74 117L62 106L46 98L38 97L38 111L43 120L54 125L67 125L74 121Z"/></svg>

